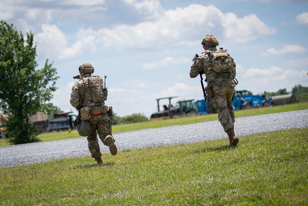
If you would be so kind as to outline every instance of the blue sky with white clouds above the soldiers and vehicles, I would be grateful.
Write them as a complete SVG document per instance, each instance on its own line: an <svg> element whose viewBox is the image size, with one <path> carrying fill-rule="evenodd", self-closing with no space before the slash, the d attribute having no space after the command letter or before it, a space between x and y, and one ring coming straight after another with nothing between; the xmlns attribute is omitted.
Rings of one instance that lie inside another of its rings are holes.
<svg viewBox="0 0 308 206"><path fill-rule="evenodd" d="M106 104L119 116L150 116L157 98L202 99L189 69L207 34L234 58L237 90L308 86L308 0L0 0L0 19L34 34L38 69L47 58L57 68L51 102L64 111L75 111L83 62L107 76Z"/></svg>

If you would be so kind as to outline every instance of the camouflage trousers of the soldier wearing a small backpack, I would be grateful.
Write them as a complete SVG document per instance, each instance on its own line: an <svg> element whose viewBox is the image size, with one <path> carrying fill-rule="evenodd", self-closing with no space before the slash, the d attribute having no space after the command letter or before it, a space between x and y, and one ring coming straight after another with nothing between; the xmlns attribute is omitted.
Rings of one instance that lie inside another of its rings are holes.
<svg viewBox="0 0 308 206"><path fill-rule="evenodd" d="M221 96L214 96L211 98L212 105L214 108L217 108L218 113L218 121L224 128L225 132L234 128L234 107L232 104L232 100L235 95L235 83L233 80L227 80L221 82L220 84L212 85L213 92L217 93ZM222 109L218 109L221 107L225 107Z"/></svg>

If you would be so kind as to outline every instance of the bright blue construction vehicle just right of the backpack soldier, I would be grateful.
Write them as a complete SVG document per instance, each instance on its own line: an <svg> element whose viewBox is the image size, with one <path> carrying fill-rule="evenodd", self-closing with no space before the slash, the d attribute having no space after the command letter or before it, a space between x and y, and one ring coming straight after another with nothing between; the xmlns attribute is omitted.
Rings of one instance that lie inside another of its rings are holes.
<svg viewBox="0 0 308 206"><path fill-rule="evenodd" d="M232 101L234 110L251 109L256 107L270 107L272 97L264 95L252 95L247 90L236 91L236 95Z"/></svg>

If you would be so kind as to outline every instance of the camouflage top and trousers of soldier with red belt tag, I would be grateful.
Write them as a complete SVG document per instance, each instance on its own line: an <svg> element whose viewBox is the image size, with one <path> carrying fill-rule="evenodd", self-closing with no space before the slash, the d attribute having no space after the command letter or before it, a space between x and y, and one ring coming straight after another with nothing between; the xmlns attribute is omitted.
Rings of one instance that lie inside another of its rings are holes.
<svg viewBox="0 0 308 206"><path fill-rule="evenodd" d="M77 82L75 82L71 93L71 99L70 99L71 105L75 107L77 110L79 110L81 88L83 85L83 81L87 77L89 78L87 79L87 82L83 89L83 99L81 103L81 108L82 107L92 108L98 105L100 106L98 106L97 108L100 107L103 108L103 106L105 106L103 95L97 95L97 93L95 94L95 91L98 92L98 94L102 93L103 78L96 75L91 76L91 74L84 74ZM94 93L91 91L94 91ZM108 141L108 139L114 141L114 138L112 137L111 121L108 117L108 114L105 112L103 114L91 115L89 122L93 129L93 132L87 137L88 147L91 152L92 158L95 158L95 160L98 161L99 159L101 159L102 153L100 152L99 149L97 133L104 145L108 146L108 143L106 142Z"/></svg>

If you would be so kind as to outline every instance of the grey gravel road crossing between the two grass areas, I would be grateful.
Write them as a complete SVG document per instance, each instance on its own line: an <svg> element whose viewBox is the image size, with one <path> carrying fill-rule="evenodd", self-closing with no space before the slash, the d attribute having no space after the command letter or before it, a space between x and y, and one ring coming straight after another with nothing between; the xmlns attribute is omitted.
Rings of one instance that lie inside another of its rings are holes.
<svg viewBox="0 0 308 206"><path fill-rule="evenodd" d="M308 127L308 109L275 114L239 117L235 120L235 134ZM56 133L55 133L56 135ZM221 124L216 121L188 125L173 125L156 129L141 129L113 134L118 152L123 149L140 149L227 138ZM99 141L102 153L109 148ZM227 144L227 142L226 142ZM241 140L239 142L241 144ZM35 142L0 147L0 168L14 165L46 162L50 159L90 155L86 137Z"/></svg>

